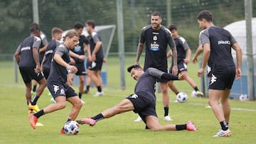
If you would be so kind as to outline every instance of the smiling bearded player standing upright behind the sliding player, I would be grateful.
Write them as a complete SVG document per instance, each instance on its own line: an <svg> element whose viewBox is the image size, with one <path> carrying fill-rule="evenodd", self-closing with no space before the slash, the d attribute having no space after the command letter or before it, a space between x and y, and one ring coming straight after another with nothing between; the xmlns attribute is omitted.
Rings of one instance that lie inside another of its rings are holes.
<svg viewBox="0 0 256 144"><path fill-rule="evenodd" d="M136 64L139 65L139 57L142 55L144 43L146 45L146 54L144 60L144 71L149 67L154 67L163 72L167 72L167 45L170 46L173 52L174 67L172 74L178 74L177 68L177 51L174 39L171 37L171 32L168 28L161 26L161 13L154 11L151 13L151 25L142 28L142 33L139 38L139 45L137 48ZM157 82L161 84L162 99L164 105L164 121L171 121L169 116L169 92L168 80L158 79ZM137 120L139 121L139 118Z"/></svg>

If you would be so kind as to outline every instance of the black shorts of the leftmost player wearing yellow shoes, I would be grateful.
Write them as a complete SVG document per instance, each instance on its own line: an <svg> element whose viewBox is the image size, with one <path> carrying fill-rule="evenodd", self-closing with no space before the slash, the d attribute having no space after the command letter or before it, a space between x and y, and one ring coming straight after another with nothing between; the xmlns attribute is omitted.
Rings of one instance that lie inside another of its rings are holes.
<svg viewBox="0 0 256 144"><path fill-rule="evenodd" d="M25 84L30 83L32 79L36 80L36 82L39 82L41 79L44 78L43 72L36 74L34 70L35 67L18 67L18 68L20 70L21 77Z"/></svg>

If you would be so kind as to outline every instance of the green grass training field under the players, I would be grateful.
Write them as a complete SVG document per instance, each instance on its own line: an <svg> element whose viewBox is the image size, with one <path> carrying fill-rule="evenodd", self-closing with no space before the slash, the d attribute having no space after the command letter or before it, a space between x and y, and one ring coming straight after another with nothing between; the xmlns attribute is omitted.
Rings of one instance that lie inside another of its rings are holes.
<svg viewBox="0 0 256 144"><path fill-rule="evenodd" d="M126 57L126 67L134 63L134 57ZM143 58L142 58L143 62ZM198 65L188 65L189 74L200 86L196 77ZM207 99L193 98L193 90L186 82L176 82L176 86L188 94L184 104L174 103L175 97L170 92L170 114L174 121L163 120L164 109L161 94L156 94L156 112L161 124L182 124L191 120L198 131L148 131L144 123L135 123L137 115L133 112L122 113L97 123L96 126L80 126L78 135L60 135L60 128L68 116L70 104L60 111L42 116L39 122L44 126L33 130L28 121L28 109L25 99L25 86L18 73L18 83L14 82L14 62L0 62L0 143L256 143L256 104L252 101L230 100L232 106L228 138L212 138L220 128L211 109L206 109ZM132 94L135 81L126 72L126 89L121 90L119 80L119 59L110 57L107 62L107 87L105 96L93 97L95 88L89 95L83 95L86 104L82 106L78 118L95 116L102 110L114 106ZM78 87L74 87L78 90ZM42 109L50 104L46 89L38 100Z"/></svg>

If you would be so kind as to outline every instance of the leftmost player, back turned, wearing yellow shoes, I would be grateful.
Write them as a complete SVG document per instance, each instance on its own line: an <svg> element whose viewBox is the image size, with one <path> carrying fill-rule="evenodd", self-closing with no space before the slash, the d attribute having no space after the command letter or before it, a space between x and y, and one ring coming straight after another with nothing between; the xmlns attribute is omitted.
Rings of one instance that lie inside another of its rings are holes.
<svg viewBox="0 0 256 144"><path fill-rule="evenodd" d="M16 62L18 63L23 82L26 85L26 101L28 104L28 113L39 111L36 102L43 93L43 89L46 88L46 79L41 72L38 48L41 45L41 39L39 38L41 30L37 25L30 26L31 36L23 40L18 45L15 52ZM31 80L34 79L38 82L39 87L36 90L36 95L31 99Z"/></svg>

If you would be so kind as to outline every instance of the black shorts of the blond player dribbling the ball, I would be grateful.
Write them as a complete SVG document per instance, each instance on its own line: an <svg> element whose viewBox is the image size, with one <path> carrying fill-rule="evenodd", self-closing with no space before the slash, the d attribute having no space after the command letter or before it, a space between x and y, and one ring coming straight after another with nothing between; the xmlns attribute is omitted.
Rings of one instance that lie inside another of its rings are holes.
<svg viewBox="0 0 256 144"><path fill-rule="evenodd" d="M57 96L65 96L66 98L78 96L74 89L68 84L62 84L60 82L47 82L47 87L54 99Z"/></svg>

